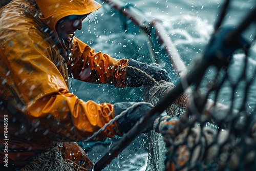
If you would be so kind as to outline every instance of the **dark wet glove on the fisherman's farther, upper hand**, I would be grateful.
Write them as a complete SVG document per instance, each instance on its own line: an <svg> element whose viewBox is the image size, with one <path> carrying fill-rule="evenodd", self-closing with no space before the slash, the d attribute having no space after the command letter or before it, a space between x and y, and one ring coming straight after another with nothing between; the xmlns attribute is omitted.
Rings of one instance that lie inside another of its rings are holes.
<svg viewBox="0 0 256 171"><path fill-rule="evenodd" d="M160 67L147 65L146 63L142 63L134 59L129 59L126 69L126 87L140 87L143 85L155 84L151 78L141 73L140 71L130 68L129 66L144 71L157 82L161 80L170 82L168 73Z"/></svg>

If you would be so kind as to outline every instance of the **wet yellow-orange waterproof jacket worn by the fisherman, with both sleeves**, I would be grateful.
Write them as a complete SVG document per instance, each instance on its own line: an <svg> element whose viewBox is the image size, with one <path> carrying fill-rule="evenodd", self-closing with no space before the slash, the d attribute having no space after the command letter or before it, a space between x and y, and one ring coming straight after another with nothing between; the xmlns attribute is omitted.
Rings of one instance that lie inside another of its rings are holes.
<svg viewBox="0 0 256 171"><path fill-rule="evenodd" d="M69 75L81 81L125 87L125 69L121 68L127 65L127 59L96 53L76 37L71 58L65 56L54 28L56 18L74 14L81 8L79 3L66 13L53 10L54 15L48 18L38 13L34 3L12 1L0 10L1 136L8 118L8 137L1 138L0 144L4 149L4 139L8 139L8 162L16 165L26 164L35 152L56 142L86 139L114 117L113 104L85 102L70 93ZM114 122L97 139L117 133ZM4 155L1 150L1 163Z"/></svg>

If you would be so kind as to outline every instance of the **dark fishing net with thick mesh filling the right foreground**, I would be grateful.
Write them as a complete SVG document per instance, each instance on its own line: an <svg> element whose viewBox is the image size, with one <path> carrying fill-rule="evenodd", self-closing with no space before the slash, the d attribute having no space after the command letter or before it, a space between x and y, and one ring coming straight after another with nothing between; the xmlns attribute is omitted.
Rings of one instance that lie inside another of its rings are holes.
<svg viewBox="0 0 256 171"><path fill-rule="evenodd" d="M256 170L255 55L244 48L229 59L192 78L195 84L155 120L147 170ZM157 104L174 87L158 83L144 100Z"/></svg>

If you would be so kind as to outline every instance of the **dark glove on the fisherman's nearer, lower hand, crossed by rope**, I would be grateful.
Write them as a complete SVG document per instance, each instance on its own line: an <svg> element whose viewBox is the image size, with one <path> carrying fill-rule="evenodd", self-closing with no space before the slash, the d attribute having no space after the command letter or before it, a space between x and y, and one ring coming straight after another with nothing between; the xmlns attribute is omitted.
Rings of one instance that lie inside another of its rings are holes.
<svg viewBox="0 0 256 171"><path fill-rule="evenodd" d="M132 107L133 106L133 107ZM127 110L128 108L131 109ZM116 120L118 130L125 134L127 133L141 117L147 114L153 108L151 103L136 103L136 102L120 102L114 103L114 116L120 115L123 111L125 113ZM153 129L153 125L151 126Z"/></svg>

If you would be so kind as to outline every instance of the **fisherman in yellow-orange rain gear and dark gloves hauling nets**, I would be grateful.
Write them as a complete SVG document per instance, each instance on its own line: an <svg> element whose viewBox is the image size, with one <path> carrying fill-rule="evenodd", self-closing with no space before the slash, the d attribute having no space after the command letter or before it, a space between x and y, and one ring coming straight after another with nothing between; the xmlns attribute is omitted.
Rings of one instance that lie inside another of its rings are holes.
<svg viewBox="0 0 256 171"><path fill-rule="evenodd" d="M61 167L88 170L92 162L77 141L135 105L93 140L122 136L153 107L85 102L69 92L68 76L117 88L153 84L138 68L170 81L159 67L94 52L74 36L100 7L94 0L14 0L0 10L1 170L49 168L41 159L59 153Z"/></svg>

